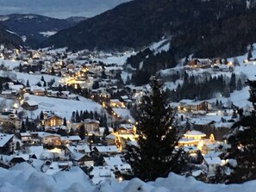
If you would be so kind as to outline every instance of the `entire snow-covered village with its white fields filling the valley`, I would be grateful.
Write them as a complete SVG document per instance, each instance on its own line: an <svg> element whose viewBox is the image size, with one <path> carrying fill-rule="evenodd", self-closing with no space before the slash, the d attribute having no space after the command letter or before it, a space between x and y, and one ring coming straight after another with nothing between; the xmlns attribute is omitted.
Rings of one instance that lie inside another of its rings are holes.
<svg viewBox="0 0 256 192"><path fill-rule="evenodd" d="M149 48L159 52L164 40ZM3 168L26 162L47 176L80 167L91 183L120 183L132 168L126 152L137 146L134 106L149 85L126 84L131 74L126 59L135 53L66 52L62 49L9 50L1 46L1 154ZM256 55L256 50L253 55ZM252 57L253 57L252 55ZM178 91L184 77L227 79L234 91L216 92L208 100L170 101L182 149L193 162L186 176L209 181L225 159L230 132L240 113L249 113L247 79L255 78L256 61L247 54L227 60L191 59L186 65L159 71L165 90ZM180 74L176 80L173 74ZM241 82L241 83L239 83ZM242 110L242 111L241 111ZM28 165L24 165L26 169ZM228 171L228 170L227 170ZM230 171L230 170L229 170ZM4 176L3 176L4 177Z"/></svg>

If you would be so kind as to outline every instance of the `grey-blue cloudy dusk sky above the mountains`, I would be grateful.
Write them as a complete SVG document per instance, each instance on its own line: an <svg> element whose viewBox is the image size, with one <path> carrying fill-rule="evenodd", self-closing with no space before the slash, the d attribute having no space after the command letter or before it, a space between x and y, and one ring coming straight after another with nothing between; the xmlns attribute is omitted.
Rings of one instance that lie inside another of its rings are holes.
<svg viewBox="0 0 256 192"><path fill-rule="evenodd" d="M0 0L0 15L39 14L56 18L91 17L129 0Z"/></svg>

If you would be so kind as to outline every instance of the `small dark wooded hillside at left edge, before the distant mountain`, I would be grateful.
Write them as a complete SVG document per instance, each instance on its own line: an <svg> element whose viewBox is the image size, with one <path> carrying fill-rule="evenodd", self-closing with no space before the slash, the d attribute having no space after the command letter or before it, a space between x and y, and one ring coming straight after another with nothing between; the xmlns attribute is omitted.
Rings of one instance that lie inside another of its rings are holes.
<svg viewBox="0 0 256 192"><path fill-rule="evenodd" d="M9 47L17 47L23 44L22 39L16 34L9 33L6 28L0 24L0 44L4 44Z"/></svg>

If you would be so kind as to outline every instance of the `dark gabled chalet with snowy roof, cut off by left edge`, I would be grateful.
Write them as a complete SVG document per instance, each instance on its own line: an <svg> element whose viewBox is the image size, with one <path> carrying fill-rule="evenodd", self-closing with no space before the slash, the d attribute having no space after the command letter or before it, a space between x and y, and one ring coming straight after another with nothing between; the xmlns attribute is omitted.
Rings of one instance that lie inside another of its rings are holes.
<svg viewBox="0 0 256 192"><path fill-rule="evenodd" d="M0 153L9 154L14 151L14 134L0 133Z"/></svg>

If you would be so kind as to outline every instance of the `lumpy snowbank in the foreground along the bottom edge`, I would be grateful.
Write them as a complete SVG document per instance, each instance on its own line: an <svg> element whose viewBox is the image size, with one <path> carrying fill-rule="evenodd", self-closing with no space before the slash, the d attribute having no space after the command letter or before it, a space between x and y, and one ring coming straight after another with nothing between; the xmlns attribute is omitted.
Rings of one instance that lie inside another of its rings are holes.
<svg viewBox="0 0 256 192"><path fill-rule="evenodd" d="M138 178L117 183L93 185L83 170L72 167L48 176L27 163L16 164L9 170L0 168L0 191L3 192L254 192L256 181L243 184L207 184L193 177L181 177L171 173L167 178L144 183Z"/></svg>

